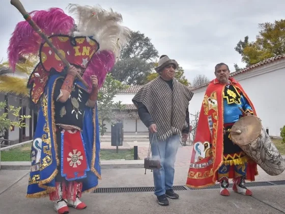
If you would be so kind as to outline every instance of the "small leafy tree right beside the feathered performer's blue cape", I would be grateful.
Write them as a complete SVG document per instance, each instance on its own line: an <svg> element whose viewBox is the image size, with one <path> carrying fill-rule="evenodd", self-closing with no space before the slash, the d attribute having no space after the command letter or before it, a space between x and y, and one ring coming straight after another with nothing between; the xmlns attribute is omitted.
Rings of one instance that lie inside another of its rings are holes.
<svg viewBox="0 0 285 214"><path fill-rule="evenodd" d="M126 89L127 86L123 85L120 81L114 79L111 74L107 74L102 89L98 92L98 112L99 112L99 123L100 132L103 136L106 132L106 124L104 122L111 123L113 119L113 109L121 103L115 104L113 98L117 92ZM122 104L121 104L122 105ZM122 107L120 105L120 107Z"/></svg>

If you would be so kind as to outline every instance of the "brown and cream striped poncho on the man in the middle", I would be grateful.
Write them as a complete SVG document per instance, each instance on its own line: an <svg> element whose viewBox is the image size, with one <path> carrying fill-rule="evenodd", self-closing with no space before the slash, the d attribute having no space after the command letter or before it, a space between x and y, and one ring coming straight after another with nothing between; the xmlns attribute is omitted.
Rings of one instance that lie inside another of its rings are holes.
<svg viewBox="0 0 285 214"><path fill-rule="evenodd" d="M189 87L173 79L173 91L160 76L143 86L133 97L133 103L143 103L157 126L157 137L165 141L173 135L181 135L186 108L193 96Z"/></svg>

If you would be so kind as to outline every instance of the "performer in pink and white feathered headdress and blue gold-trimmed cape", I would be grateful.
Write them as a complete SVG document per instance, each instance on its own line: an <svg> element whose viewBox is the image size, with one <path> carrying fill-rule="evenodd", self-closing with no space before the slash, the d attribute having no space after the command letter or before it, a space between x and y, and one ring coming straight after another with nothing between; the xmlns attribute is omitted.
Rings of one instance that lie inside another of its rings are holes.
<svg viewBox="0 0 285 214"><path fill-rule="evenodd" d="M17 24L8 48L10 66L22 57L39 56L27 87L39 105L32 144L32 165L27 197L48 196L58 213L68 206L86 208L82 192L97 188L100 142L97 93L119 58L130 30L122 16L99 7L70 5L75 21L59 8L30 13L35 23L67 59L66 69L53 49L23 21ZM87 89L76 79L79 73Z"/></svg>

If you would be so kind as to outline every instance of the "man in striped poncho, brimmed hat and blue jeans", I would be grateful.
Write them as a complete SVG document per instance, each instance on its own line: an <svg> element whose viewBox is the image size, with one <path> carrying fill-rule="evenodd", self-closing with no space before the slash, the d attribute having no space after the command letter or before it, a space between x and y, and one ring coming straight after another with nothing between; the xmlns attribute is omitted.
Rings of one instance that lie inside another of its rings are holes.
<svg viewBox="0 0 285 214"><path fill-rule="evenodd" d="M179 198L173 191L174 164L180 137L187 140L189 132L188 105L193 93L174 78L177 67L175 60L162 55L155 68L159 76L132 99L140 120L149 128L152 157L160 158L161 168L153 170L154 194L160 205L169 204L166 196Z"/></svg>

